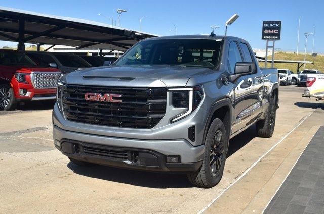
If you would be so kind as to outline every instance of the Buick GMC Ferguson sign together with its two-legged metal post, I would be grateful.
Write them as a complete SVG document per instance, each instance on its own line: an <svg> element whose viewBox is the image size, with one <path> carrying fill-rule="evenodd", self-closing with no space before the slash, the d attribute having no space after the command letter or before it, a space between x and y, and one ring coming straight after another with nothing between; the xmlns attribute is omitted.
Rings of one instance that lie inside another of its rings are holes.
<svg viewBox="0 0 324 214"><path fill-rule="evenodd" d="M266 40L266 49L265 49L265 62L264 65L267 67L268 61L268 49L272 48L272 60L271 68L273 68L274 60L274 43L276 40L280 40L281 34L281 21L263 21L262 24L262 40ZM269 46L269 42L272 41L272 46Z"/></svg>

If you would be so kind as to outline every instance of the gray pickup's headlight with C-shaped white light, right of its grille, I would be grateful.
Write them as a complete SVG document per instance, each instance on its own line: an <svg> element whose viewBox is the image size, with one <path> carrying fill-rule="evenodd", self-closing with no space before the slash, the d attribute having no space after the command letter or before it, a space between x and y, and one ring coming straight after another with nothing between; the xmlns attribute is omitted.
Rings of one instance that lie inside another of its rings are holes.
<svg viewBox="0 0 324 214"><path fill-rule="evenodd" d="M169 90L172 91L172 105L174 108L184 109L184 112L173 118L171 122L178 121L192 113L204 98L204 91L201 86L192 88L171 88Z"/></svg>

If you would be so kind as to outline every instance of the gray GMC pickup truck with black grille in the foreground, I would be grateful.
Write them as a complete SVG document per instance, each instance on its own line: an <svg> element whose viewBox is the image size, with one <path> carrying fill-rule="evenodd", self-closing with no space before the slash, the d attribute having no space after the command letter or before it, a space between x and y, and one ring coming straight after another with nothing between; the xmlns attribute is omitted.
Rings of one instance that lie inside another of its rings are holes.
<svg viewBox="0 0 324 214"><path fill-rule="evenodd" d="M55 147L77 165L183 172L212 187L230 138L253 124L272 136L278 86L277 69L260 69L243 39L145 39L111 66L62 77Z"/></svg>

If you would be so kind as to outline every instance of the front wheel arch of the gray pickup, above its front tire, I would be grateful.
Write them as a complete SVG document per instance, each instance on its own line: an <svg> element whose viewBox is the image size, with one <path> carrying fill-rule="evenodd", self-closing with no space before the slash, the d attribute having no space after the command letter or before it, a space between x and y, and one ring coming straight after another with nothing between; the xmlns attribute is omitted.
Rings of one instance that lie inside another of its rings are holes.
<svg viewBox="0 0 324 214"><path fill-rule="evenodd" d="M232 129L232 102L229 98L220 99L212 105L205 124L203 144L205 144L208 129L215 118L219 118L224 123L225 130L227 132L226 135L229 139Z"/></svg>

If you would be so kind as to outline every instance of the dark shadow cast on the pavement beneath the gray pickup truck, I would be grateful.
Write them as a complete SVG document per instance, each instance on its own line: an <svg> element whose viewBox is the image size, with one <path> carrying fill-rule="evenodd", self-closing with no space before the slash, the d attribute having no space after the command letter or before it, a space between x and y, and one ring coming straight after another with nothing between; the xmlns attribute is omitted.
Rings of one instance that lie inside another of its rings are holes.
<svg viewBox="0 0 324 214"><path fill-rule="evenodd" d="M254 125L245 132L235 136L229 142L227 157L231 156L240 148L245 146L253 138L255 138L255 136L256 130ZM81 167L73 164L72 162L69 162L67 167L79 175L135 186L159 189L194 187L189 183L185 174L135 171L101 165Z"/></svg>

